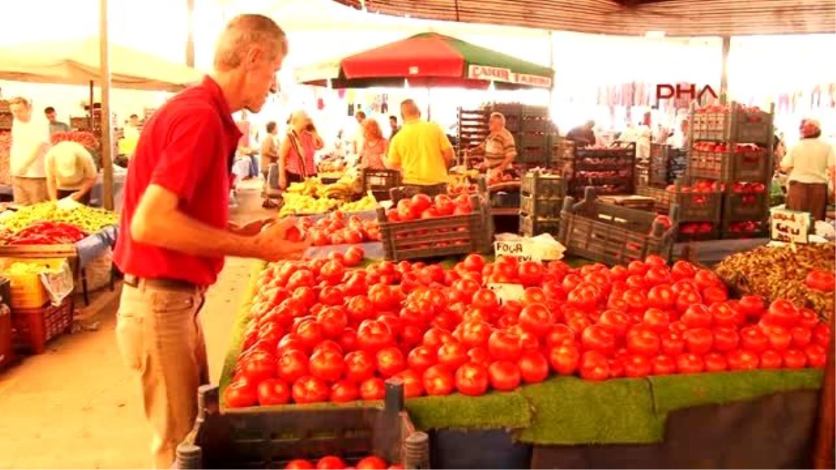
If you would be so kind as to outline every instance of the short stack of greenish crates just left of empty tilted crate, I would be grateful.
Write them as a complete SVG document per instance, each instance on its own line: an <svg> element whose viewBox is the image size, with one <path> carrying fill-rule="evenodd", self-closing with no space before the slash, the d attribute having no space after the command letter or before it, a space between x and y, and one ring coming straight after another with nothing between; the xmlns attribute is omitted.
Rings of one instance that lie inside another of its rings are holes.
<svg viewBox="0 0 836 470"><path fill-rule="evenodd" d="M534 237L541 233L557 234L560 211L566 197L566 179L561 174L531 170L520 185L520 234Z"/></svg>

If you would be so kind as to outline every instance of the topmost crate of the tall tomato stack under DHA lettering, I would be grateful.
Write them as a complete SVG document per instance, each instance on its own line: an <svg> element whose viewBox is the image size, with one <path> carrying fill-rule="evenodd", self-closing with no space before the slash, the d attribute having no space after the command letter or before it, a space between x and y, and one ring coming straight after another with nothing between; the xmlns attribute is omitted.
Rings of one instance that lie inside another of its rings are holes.
<svg viewBox="0 0 836 470"><path fill-rule="evenodd" d="M734 102L724 108L695 109L689 116L691 141L713 140L771 147L774 139L772 116L772 112L747 109Z"/></svg>

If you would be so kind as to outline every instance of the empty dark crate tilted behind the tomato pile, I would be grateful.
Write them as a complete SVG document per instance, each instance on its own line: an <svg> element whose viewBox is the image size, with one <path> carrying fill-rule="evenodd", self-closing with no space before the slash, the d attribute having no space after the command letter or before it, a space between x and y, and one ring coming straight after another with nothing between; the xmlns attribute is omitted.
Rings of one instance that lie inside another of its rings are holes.
<svg viewBox="0 0 836 470"><path fill-rule="evenodd" d="M603 204L588 188L584 200L567 197L560 215L558 242L567 252L599 263L623 264L656 254L670 260L676 239L678 207L670 209L673 225L656 221L654 212Z"/></svg>

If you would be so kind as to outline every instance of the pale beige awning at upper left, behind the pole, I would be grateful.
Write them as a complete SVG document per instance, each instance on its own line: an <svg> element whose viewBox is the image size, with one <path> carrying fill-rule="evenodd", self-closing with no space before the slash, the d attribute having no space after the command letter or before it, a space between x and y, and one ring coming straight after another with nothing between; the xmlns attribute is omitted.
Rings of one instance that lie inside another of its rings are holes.
<svg viewBox="0 0 836 470"><path fill-rule="evenodd" d="M0 48L0 79L51 83L89 84L99 81L99 38L22 43ZM126 89L177 91L200 81L202 74L119 44L110 44L113 86Z"/></svg>

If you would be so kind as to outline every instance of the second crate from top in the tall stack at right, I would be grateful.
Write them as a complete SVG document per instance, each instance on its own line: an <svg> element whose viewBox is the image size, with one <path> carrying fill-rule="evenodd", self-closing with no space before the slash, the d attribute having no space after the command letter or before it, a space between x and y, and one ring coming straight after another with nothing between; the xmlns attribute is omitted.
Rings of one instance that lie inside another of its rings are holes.
<svg viewBox="0 0 836 470"><path fill-rule="evenodd" d="M697 150L705 143L697 143L689 156L688 174L726 182L750 181L767 183L772 177L772 151L760 147L757 151Z"/></svg>

